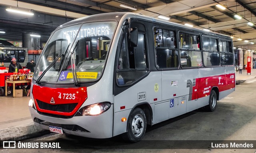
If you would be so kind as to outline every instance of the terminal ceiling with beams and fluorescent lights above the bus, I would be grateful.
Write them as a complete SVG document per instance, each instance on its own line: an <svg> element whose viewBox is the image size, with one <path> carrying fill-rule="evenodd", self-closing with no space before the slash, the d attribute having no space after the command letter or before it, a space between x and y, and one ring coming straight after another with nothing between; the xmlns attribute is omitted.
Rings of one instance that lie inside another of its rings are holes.
<svg viewBox="0 0 256 153"><path fill-rule="evenodd" d="M17 3L19 9L31 10L34 16L5 10L17 8ZM226 10L217 8L216 4L222 4ZM46 41L65 22L105 12L134 12L154 18L168 16L170 22L189 23L195 28L234 36L234 46L256 51L256 26L247 24L256 23L256 0L0 0L0 30L6 31L0 38L21 40L21 32L28 32L40 34L42 41ZM234 18L235 14L242 19Z"/></svg>

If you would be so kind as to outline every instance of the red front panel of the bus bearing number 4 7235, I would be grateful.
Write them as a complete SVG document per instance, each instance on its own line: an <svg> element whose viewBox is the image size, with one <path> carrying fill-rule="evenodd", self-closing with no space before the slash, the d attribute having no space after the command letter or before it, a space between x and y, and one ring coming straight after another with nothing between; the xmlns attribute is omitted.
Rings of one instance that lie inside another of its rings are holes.
<svg viewBox="0 0 256 153"><path fill-rule="evenodd" d="M33 95L36 108L38 111L43 113L51 113L56 115L71 116L74 115L87 99L87 88L77 87L77 88L52 88L52 87L42 87L38 85L33 86ZM70 112L53 111L42 109L39 107L38 102L46 103L50 105L62 105L62 104L75 104L76 107Z"/></svg>

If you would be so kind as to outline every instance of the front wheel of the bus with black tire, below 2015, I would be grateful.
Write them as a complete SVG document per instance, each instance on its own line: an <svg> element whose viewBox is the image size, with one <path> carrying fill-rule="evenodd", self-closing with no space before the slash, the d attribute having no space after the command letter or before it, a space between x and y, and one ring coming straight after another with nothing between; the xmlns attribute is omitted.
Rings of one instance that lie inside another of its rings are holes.
<svg viewBox="0 0 256 153"><path fill-rule="evenodd" d="M122 134L125 141L132 143L142 140L145 135L147 122L144 111L140 108L134 109L127 120L128 131Z"/></svg>

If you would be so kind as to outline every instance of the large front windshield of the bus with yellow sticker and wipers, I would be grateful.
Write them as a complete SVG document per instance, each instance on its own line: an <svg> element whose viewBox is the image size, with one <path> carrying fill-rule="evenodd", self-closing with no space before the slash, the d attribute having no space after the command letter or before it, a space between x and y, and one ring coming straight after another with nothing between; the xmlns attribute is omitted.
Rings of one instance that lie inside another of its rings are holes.
<svg viewBox="0 0 256 153"><path fill-rule="evenodd" d="M115 27L116 22L112 21L79 24L57 30L45 46L34 79L38 79L56 60L46 70L41 81L73 83L75 74L72 66L78 83L98 80L102 76Z"/></svg>

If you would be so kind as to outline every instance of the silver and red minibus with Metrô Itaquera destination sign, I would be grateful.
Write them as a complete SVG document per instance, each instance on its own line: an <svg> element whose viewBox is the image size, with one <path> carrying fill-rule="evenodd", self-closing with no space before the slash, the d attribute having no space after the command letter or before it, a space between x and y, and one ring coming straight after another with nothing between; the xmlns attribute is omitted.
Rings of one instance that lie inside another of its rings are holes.
<svg viewBox="0 0 256 153"><path fill-rule="evenodd" d="M36 66L30 112L37 127L140 141L147 125L235 90L232 39L134 13L59 26Z"/></svg>

